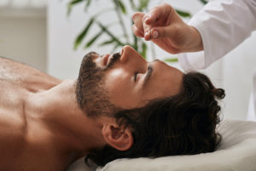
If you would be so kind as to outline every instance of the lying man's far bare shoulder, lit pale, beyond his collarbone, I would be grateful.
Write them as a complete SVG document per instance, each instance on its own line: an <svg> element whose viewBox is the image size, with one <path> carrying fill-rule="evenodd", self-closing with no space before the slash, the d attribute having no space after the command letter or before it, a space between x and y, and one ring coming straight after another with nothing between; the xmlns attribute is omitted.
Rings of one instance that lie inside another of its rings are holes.
<svg viewBox="0 0 256 171"><path fill-rule="evenodd" d="M0 57L0 79L37 92L54 87L62 81L32 66Z"/></svg>

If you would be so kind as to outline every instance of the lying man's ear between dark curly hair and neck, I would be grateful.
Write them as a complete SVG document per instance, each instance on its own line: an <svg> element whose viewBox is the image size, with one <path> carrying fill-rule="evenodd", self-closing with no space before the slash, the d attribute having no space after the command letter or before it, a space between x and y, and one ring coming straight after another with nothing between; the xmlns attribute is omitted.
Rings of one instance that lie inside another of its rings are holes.
<svg viewBox="0 0 256 171"><path fill-rule="evenodd" d="M109 145L119 151L126 151L133 145L130 128L120 128L116 123L105 123L102 135Z"/></svg>

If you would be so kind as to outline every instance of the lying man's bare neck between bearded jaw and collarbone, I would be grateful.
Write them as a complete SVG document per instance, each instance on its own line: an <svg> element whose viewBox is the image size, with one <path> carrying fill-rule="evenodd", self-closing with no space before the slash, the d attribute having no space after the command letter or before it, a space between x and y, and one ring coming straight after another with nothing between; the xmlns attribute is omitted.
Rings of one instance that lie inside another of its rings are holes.
<svg viewBox="0 0 256 171"><path fill-rule="evenodd" d="M102 123L86 117L79 109L75 83L75 80L64 81L54 88L35 94L32 96L32 106L38 111L38 121L43 122L49 132L55 135L61 151L82 157L90 149L103 146L104 140Z"/></svg>

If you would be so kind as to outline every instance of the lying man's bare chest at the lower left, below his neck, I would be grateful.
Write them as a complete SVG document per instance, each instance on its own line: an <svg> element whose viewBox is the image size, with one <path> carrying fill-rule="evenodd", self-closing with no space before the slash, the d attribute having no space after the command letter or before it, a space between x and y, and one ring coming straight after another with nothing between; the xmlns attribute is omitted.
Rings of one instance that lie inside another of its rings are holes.
<svg viewBox="0 0 256 171"><path fill-rule="evenodd" d="M27 121L27 96L26 89L0 81L0 170L63 171L67 164L51 135L40 124ZM27 142L28 135L34 141Z"/></svg>

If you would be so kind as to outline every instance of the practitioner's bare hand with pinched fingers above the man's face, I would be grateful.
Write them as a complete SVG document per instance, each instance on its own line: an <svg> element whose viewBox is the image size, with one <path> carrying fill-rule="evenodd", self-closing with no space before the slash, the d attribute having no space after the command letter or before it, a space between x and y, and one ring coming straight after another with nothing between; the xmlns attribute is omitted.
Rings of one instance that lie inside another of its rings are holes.
<svg viewBox="0 0 256 171"><path fill-rule="evenodd" d="M132 20L132 31L137 37L152 40L171 54L203 50L200 33L184 23L171 5L163 3L148 14L133 14Z"/></svg>

